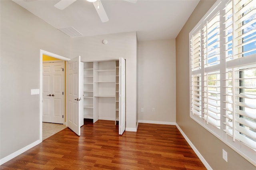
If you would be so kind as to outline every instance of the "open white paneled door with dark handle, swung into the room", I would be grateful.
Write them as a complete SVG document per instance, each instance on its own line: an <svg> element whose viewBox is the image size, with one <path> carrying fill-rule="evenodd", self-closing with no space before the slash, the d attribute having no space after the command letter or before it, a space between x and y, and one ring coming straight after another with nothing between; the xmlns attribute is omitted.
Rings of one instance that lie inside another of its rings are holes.
<svg viewBox="0 0 256 170"><path fill-rule="evenodd" d="M80 136L80 56L68 61L67 69L67 126ZM81 98L80 98L81 97Z"/></svg>

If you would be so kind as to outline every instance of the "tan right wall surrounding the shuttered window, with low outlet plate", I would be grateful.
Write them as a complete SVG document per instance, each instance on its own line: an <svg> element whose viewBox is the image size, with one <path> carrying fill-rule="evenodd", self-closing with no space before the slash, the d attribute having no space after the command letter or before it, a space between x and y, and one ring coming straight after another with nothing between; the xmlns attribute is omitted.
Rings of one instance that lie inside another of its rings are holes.
<svg viewBox="0 0 256 170"><path fill-rule="evenodd" d="M201 0L176 38L176 122L214 170L253 170L242 156L198 125L189 116L189 32L215 3ZM228 152L228 162L222 159Z"/></svg>

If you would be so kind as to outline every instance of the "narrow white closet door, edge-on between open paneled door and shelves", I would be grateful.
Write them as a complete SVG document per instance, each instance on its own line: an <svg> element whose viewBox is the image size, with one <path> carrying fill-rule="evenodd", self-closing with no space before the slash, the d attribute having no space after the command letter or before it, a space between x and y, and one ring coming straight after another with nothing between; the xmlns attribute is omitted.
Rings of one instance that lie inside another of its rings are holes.
<svg viewBox="0 0 256 170"><path fill-rule="evenodd" d="M80 126L84 125L84 63L80 62L80 70L81 70L81 74L80 74Z"/></svg>

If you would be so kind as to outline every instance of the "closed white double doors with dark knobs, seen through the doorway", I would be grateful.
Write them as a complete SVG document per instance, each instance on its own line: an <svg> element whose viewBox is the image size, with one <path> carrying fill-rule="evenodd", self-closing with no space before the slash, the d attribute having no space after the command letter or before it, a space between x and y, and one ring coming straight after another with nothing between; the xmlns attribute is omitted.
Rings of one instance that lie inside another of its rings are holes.
<svg viewBox="0 0 256 170"><path fill-rule="evenodd" d="M43 63L42 121L63 124L64 62Z"/></svg>

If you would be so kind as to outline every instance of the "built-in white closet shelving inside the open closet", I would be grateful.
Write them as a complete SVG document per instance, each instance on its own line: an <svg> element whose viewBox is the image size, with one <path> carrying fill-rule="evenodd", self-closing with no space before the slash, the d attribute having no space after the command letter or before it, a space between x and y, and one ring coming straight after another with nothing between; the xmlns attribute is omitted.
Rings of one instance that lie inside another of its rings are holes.
<svg viewBox="0 0 256 170"><path fill-rule="evenodd" d="M101 119L120 124L119 64L119 60L84 62L85 119L93 119L94 123Z"/></svg>

